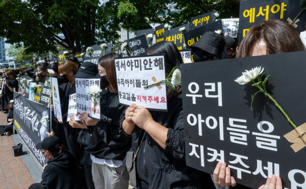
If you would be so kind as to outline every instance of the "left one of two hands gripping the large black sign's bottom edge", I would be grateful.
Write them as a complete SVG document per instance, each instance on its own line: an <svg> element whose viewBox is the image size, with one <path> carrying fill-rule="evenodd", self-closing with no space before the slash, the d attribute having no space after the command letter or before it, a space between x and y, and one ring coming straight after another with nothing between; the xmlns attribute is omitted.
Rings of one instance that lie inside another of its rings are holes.
<svg viewBox="0 0 306 189"><path fill-rule="evenodd" d="M231 170L226 167L225 162L219 162L214 170L214 182L216 184L225 186L236 186L235 178L231 176Z"/></svg>

